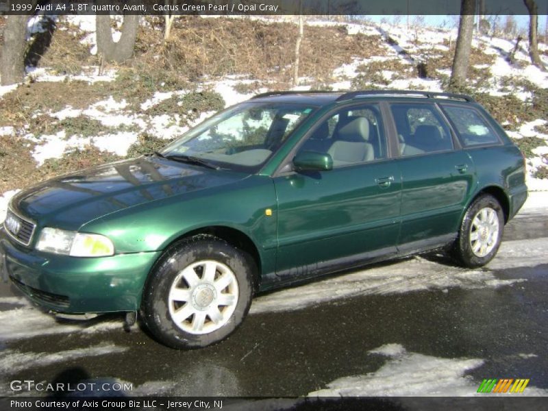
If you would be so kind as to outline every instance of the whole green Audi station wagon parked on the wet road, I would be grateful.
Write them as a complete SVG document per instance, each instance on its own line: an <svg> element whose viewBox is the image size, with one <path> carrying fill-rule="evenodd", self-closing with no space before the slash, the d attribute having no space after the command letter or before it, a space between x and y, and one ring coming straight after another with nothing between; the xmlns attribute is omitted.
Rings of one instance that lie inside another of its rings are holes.
<svg viewBox="0 0 548 411"><path fill-rule="evenodd" d="M51 312L140 312L204 347L260 291L442 247L482 266L526 197L519 149L468 96L270 92L19 192L0 269Z"/></svg>

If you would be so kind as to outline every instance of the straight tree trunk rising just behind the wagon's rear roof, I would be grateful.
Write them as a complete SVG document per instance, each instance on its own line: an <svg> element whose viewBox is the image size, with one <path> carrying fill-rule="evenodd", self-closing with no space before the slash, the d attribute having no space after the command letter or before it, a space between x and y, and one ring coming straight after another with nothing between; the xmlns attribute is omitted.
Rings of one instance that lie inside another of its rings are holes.
<svg viewBox="0 0 548 411"><path fill-rule="evenodd" d="M466 82L466 73L468 72L470 51L472 49L474 12L475 0L461 0L457 45L450 80L450 86L453 87L462 87Z"/></svg>

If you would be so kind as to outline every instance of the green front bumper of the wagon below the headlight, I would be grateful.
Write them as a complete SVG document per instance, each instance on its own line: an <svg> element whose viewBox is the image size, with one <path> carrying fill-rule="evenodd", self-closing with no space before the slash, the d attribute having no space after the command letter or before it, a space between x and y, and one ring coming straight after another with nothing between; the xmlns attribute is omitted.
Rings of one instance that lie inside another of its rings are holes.
<svg viewBox="0 0 548 411"><path fill-rule="evenodd" d="M0 271L39 306L56 312L135 311L160 251L78 258L15 245L0 228Z"/></svg>

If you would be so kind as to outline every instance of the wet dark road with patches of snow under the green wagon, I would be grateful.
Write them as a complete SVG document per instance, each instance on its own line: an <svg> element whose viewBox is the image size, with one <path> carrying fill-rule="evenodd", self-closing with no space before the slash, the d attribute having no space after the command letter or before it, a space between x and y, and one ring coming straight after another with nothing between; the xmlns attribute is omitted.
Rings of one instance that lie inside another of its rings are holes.
<svg viewBox="0 0 548 411"><path fill-rule="evenodd" d="M0 284L0 395L29 395L14 379L129 382L128 395L473 395L484 378L548 395L547 248L544 211L523 212L484 269L427 255L262 295L236 334L194 351L124 332L120 316L55 323Z"/></svg>

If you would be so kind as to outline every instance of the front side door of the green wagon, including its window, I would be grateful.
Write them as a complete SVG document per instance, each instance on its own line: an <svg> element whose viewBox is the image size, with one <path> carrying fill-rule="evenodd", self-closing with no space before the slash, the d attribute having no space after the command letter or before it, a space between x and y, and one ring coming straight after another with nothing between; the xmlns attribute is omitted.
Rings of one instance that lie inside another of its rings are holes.
<svg viewBox="0 0 548 411"><path fill-rule="evenodd" d="M274 179L279 279L395 253L401 178L388 158L379 106L355 105L327 115L299 150L329 153L334 168Z"/></svg>

